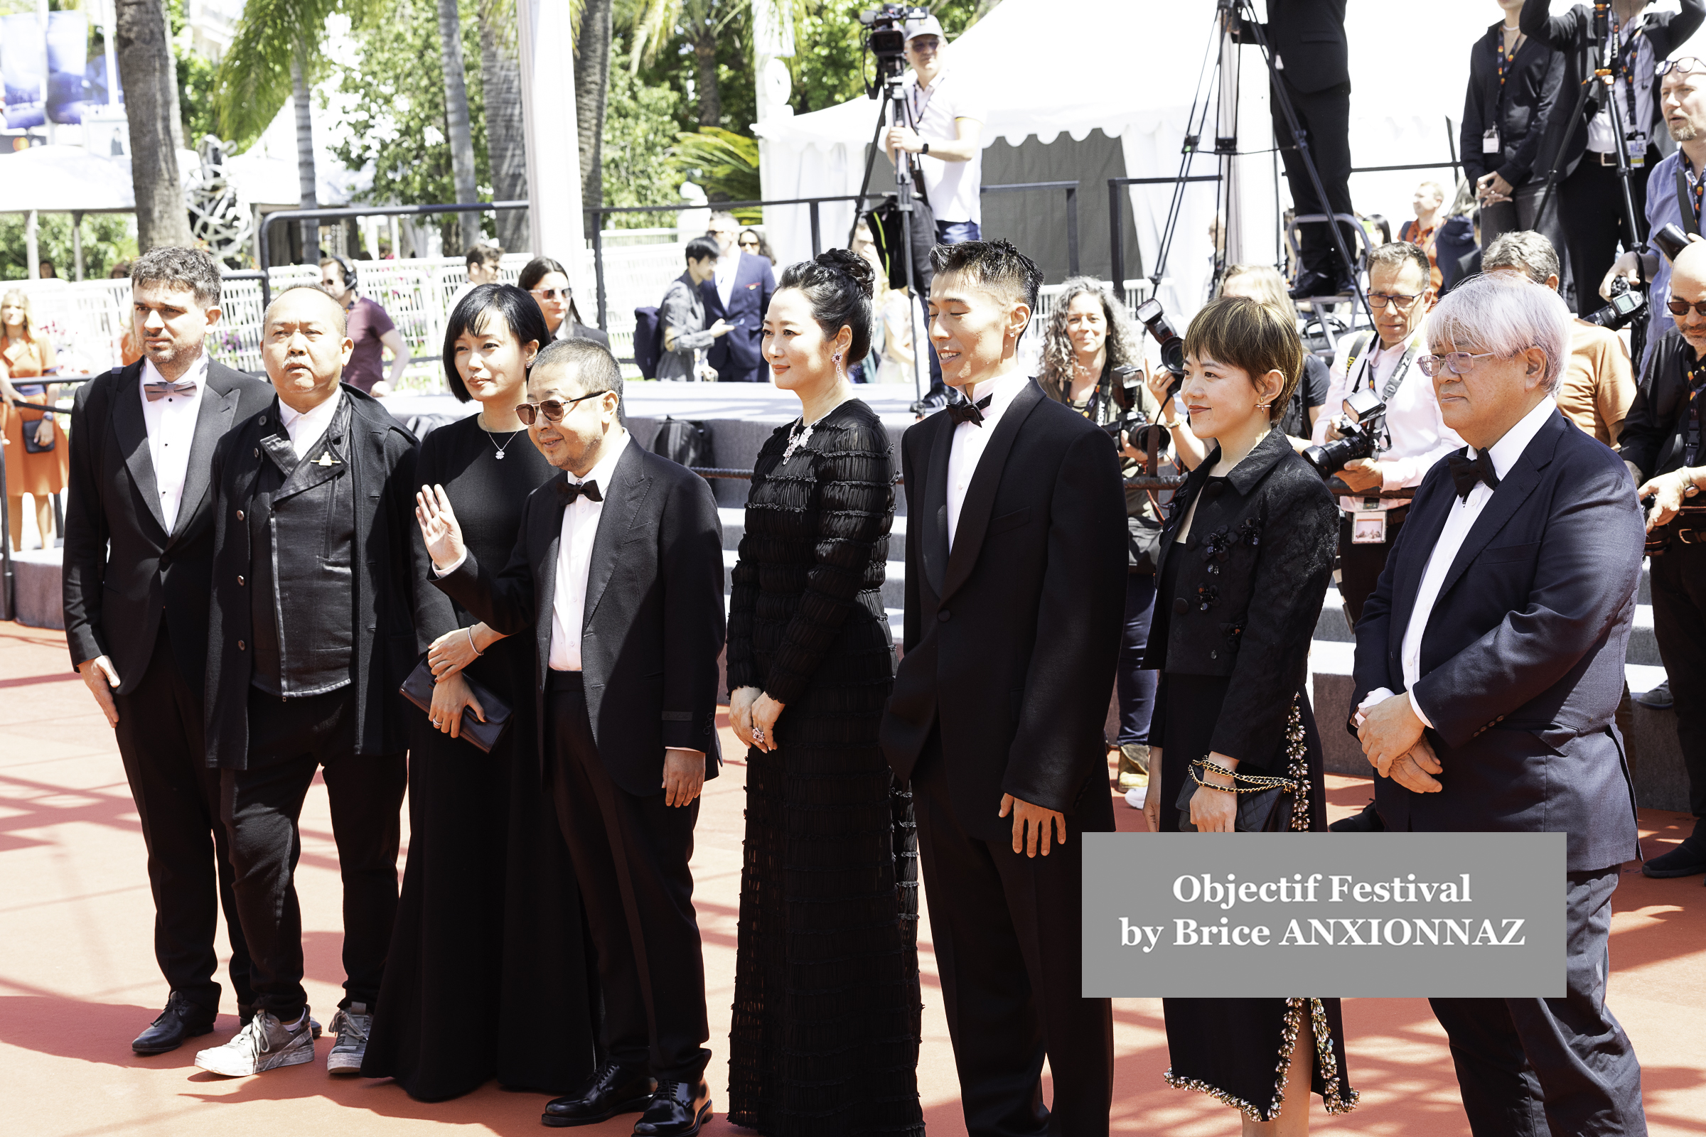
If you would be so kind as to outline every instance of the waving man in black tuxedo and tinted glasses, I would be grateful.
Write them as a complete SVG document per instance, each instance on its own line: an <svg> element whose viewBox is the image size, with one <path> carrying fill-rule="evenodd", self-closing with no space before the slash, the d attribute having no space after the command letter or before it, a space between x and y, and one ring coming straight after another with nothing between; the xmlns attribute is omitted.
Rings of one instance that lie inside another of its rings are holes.
<svg viewBox="0 0 1706 1137"><path fill-rule="evenodd" d="M696 1134L711 1052L688 861L720 762L722 523L703 479L623 430L604 348L546 346L527 397L527 433L563 477L527 498L510 563L474 561L442 488L421 488L416 518L438 588L537 644L541 772L592 929L606 1055L544 1123L645 1110L640 1137Z"/></svg>

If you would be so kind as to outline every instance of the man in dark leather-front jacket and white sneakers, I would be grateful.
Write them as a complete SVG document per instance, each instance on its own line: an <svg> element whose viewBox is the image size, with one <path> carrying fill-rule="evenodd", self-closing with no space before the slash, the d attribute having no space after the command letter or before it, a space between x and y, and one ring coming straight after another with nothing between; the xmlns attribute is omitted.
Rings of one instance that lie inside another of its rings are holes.
<svg viewBox="0 0 1706 1137"><path fill-rule="evenodd" d="M261 341L278 397L213 453L206 755L256 996L254 1019L196 1055L215 1074L314 1060L295 868L317 772L343 876L331 1074L362 1069L391 949L408 781L397 689L416 660L415 436L341 382L353 346L343 305L317 285L278 293Z"/></svg>

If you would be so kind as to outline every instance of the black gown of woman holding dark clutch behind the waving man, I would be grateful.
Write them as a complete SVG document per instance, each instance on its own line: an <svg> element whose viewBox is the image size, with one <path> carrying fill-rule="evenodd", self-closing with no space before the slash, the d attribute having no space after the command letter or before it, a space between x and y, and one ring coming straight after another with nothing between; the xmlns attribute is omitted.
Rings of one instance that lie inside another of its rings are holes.
<svg viewBox="0 0 1706 1137"><path fill-rule="evenodd" d="M471 416L426 436L416 481L444 486L483 564L505 564L527 494L554 472L525 431L490 436ZM418 530L415 556L433 614L421 644L476 624L428 583ZM490 755L408 709L409 854L362 1074L421 1101L491 1077L568 1093L594 1065L597 1002L573 866L539 786L532 655L529 636L510 636L467 667L514 711Z"/></svg>

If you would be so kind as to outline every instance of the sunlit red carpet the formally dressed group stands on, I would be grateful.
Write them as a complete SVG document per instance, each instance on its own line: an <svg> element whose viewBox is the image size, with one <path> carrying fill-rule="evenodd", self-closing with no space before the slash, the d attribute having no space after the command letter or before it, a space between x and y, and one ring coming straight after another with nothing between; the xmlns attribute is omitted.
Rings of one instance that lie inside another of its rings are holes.
<svg viewBox="0 0 1706 1137"><path fill-rule="evenodd" d="M428 1125L469 1132L536 1134L539 1094L488 1086L457 1101L421 1105L387 1082L333 1081L321 1062L261 1077L217 1079L191 1064L198 1045L235 1030L227 989L218 1030L176 1053L138 1059L130 1040L165 1001L154 965L142 834L113 733L68 670L61 632L0 624L0 1084L5 1132L36 1137L148 1134L159 1137L336 1132L408 1134ZM734 738L725 730L725 747ZM737 1134L722 1120L728 1004L734 987L740 888L744 767L728 764L706 791L694 874L710 975L711 1069L718 1118L708 1134ZM1332 777L1334 817L1368 799L1368 784ZM1141 828L1116 803L1121 828ZM1689 818L1643 811L1648 856L1682 837ZM309 796L299 890L307 987L319 1018L339 996L339 886L322 789ZM1133 871L1141 871L1134 866ZM1706 893L1701 878L1651 881L1626 868L1612 924L1610 1006L1645 1065L1651 1132L1706 1134ZM959 1084L935 960L921 929L925 1045L918 1081L930 1134L964 1134ZM1344 1004L1351 1084L1363 1105L1317 1132L1367 1137L1467 1135L1445 1040L1419 999ZM1124 1134L1218 1137L1239 1132L1215 1101L1167 1089L1160 1002L1114 1004L1117 1084L1114 1128ZM469 1047L490 1040L467 1038ZM583 1128L628 1134L631 1118ZM1566 1137L1559 1134L1558 1137Z"/></svg>

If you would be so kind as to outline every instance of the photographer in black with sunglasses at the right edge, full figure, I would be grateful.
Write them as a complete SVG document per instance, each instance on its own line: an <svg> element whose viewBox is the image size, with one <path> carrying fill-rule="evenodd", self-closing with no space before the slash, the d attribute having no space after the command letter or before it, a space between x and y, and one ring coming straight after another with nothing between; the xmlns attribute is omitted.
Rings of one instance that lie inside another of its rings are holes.
<svg viewBox="0 0 1706 1137"><path fill-rule="evenodd" d="M1641 866L1648 876L1706 873L1706 244L1672 263L1675 327L1653 344L1621 452L1646 508L1653 636L1675 697L1694 832Z"/></svg>

